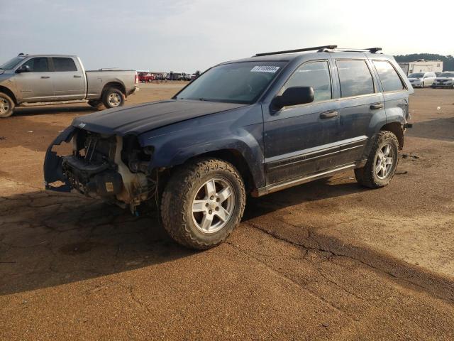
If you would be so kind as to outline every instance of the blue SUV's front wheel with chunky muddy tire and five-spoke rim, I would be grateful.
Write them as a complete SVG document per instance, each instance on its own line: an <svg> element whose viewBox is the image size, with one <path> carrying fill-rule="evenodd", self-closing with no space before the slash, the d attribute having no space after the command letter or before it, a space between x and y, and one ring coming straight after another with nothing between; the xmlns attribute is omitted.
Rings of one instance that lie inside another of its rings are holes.
<svg viewBox="0 0 454 341"><path fill-rule="evenodd" d="M240 223L245 186L231 163L200 158L180 166L162 194L162 223L179 244L210 249Z"/></svg>

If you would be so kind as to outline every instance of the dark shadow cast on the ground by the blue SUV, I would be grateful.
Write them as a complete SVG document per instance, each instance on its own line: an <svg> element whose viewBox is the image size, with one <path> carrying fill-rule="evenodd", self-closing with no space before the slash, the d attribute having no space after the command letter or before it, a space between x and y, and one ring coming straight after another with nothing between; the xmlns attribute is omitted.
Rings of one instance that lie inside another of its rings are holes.
<svg viewBox="0 0 454 341"><path fill-rule="evenodd" d="M361 191L316 181L248 202L244 220L287 205ZM79 195L35 192L0 197L0 294L153 266L195 251L175 244L157 215Z"/></svg>

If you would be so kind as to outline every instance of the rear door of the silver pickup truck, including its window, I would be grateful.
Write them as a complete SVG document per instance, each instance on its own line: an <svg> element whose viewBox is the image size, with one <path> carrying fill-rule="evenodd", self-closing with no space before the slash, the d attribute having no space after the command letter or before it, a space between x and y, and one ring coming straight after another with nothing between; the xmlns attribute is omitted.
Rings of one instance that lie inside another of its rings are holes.
<svg viewBox="0 0 454 341"><path fill-rule="evenodd" d="M58 101L84 99L86 85L84 70L73 58L52 57L52 82Z"/></svg>

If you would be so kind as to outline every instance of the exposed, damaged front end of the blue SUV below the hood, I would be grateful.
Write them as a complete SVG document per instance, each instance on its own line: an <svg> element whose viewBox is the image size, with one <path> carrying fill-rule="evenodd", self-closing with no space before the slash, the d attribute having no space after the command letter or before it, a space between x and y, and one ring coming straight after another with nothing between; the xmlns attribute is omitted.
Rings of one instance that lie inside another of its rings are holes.
<svg viewBox="0 0 454 341"><path fill-rule="evenodd" d="M52 149L72 144L72 154ZM153 148L141 148L136 136L98 134L70 126L49 146L44 161L45 188L72 190L114 202L131 212L157 195L157 172L148 168Z"/></svg>

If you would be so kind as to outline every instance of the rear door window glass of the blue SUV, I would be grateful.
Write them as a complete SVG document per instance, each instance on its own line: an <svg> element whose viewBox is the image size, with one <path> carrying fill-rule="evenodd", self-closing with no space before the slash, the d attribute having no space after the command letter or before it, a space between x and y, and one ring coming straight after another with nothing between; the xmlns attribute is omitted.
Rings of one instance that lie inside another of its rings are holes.
<svg viewBox="0 0 454 341"><path fill-rule="evenodd" d="M374 93L374 81L364 60L337 60L342 97Z"/></svg>

